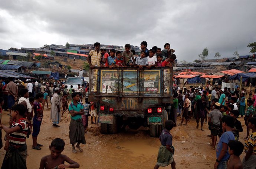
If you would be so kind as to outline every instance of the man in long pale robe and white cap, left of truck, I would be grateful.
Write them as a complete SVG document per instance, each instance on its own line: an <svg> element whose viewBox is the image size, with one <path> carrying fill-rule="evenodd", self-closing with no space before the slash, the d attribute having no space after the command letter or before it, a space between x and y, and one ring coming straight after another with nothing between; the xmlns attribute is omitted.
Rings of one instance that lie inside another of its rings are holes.
<svg viewBox="0 0 256 169"><path fill-rule="evenodd" d="M60 120L61 120L60 98L59 98L60 88L56 87L54 90L55 90L55 93L53 94L53 97L52 97L52 106L51 106L50 119L53 122L53 124L52 124L53 127L60 127L58 125Z"/></svg>

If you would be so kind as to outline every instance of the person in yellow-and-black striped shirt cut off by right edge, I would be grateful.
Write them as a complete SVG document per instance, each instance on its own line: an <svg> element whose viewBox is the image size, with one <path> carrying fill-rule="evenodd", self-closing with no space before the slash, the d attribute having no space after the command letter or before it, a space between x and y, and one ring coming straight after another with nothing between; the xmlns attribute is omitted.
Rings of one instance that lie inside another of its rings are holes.
<svg viewBox="0 0 256 169"><path fill-rule="evenodd" d="M243 158L243 168L244 169L255 169L256 168L256 117L250 118L248 120L249 128L252 129L252 134L250 134L245 143L244 151L246 155Z"/></svg>

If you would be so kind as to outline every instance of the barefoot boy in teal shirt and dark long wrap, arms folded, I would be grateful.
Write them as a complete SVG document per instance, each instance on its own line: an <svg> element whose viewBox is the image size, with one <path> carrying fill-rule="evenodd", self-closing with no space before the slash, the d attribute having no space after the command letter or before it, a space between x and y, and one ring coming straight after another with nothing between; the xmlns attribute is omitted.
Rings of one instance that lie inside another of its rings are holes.
<svg viewBox="0 0 256 169"><path fill-rule="evenodd" d="M85 141L85 128L82 123L82 114L84 114L83 105L79 103L79 93L72 93L72 102L69 104L69 113L71 115L71 120L69 124L69 139L70 144L72 144L73 153L77 153L75 149L79 149L79 151L83 151L80 147L80 144L86 144Z"/></svg>

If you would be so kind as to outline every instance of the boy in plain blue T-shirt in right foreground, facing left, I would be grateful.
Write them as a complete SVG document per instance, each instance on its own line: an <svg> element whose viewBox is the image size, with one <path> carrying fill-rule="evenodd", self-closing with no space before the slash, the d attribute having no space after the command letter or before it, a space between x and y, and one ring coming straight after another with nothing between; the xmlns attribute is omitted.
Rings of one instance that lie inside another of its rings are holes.
<svg viewBox="0 0 256 169"><path fill-rule="evenodd" d="M216 148L216 163L214 169L227 168L227 160L229 159L229 141L235 140L232 128L234 126L234 118L226 115L221 118L222 128L225 131L221 137Z"/></svg>

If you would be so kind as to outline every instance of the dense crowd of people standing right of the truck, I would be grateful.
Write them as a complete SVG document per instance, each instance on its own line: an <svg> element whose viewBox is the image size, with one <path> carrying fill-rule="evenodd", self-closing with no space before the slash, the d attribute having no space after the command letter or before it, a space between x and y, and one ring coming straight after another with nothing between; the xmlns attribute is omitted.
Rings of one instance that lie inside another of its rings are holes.
<svg viewBox="0 0 256 169"><path fill-rule="evenodd" d="M203 84L198 87L190 86L190 89L174 85L173 89L173 106L170 110L167 109L168 119L174 122L174 127L177 127L177 125L188 125L191 118L194 118L197 123L196 128L199 127L200 122L202 131L205 130L204 123L208 123L207 127L210 130L208 137L212 139L210 145L212 149L216 149L217 159L214 168L236 166L236 168L255 169L256 89L254 96L252 90L247 93L244 88L240 90L237 84L234 89L221 88L218 84L213 86L212 83L207 83L206 86ZM180 123L177 122L177 116L182 116ZM244 146L239 141L239 132L243 132L243 127L237 118L243 118L246 125ZM251 134L250 129L252 129ZM216 146L218 136L220 139ZM239 155L243 150L246 156L241 162Z"/></svg>

